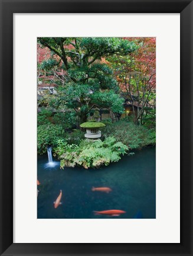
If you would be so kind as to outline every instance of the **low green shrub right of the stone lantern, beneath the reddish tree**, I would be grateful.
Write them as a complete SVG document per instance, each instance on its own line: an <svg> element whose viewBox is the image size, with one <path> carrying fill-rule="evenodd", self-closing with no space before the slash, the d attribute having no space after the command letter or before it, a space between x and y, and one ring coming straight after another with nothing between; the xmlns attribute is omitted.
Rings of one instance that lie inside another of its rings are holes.
<svg viewBox="0 0 193 256"><path fill-rule="evenodd" d="M124 143L129 149L154 145L156 142L154 129L147 129L144 126L138 126L125 120L104 127L102 135L104 137L114 136L117 141Z"/></svg>

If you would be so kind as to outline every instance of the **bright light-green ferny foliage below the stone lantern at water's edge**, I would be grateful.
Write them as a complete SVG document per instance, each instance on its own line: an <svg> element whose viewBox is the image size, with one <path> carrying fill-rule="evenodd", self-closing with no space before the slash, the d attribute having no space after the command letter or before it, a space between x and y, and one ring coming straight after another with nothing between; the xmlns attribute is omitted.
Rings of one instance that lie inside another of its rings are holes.
<svg viewBox="0 0 193 256"><path fill-rule="evenodd" d="M61 159L61 168L80 165L87 169L117 162L120 160L120 155L124 155L127 149L122 142L116 142L114 137L107 137L104 142L83 140L79 146L67 145L64 140L60 140L55 152Z"/></svg>

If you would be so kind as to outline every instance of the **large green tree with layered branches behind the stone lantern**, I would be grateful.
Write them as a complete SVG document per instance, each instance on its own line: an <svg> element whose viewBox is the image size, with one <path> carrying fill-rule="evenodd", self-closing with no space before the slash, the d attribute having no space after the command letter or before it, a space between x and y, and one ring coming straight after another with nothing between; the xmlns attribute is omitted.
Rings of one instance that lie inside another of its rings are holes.
<svg viewBox="0 0 193 256"><path fill-rule="evenodd" d="M94 107L122 113L123 99L105 62L109 56L127 56L136 50L133 41L112 37L39 37L41 47L50 49L51 57L41 62L41 69L53 75L60 85L54 95L55 107L76 111L80 123Z"/></svg>

